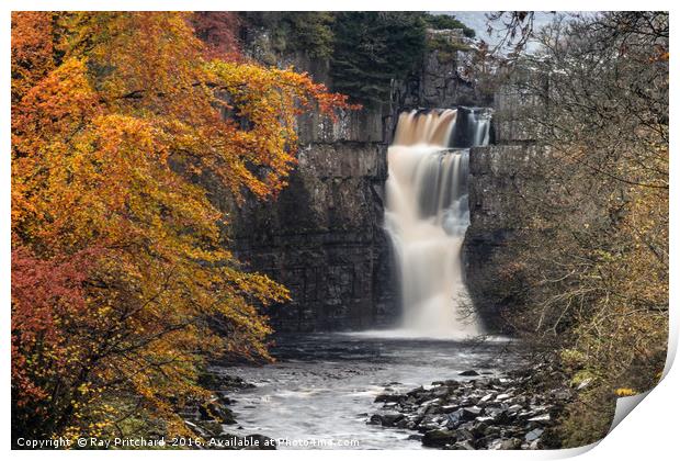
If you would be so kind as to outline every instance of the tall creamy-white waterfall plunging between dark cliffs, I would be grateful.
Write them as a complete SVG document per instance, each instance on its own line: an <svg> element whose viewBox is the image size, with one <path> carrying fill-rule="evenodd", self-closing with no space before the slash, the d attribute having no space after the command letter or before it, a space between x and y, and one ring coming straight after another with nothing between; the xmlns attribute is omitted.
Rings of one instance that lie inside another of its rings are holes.
<svg viewBox="0 0 680 461"><path fill-rule="evenodd" d="M385 228L399 271L405 333L453 338L481 333L464 307L469 297L461 249L469 225L469 147L488 144L489 124L490 113L479 109L399 115L387 154Z"/></svg>

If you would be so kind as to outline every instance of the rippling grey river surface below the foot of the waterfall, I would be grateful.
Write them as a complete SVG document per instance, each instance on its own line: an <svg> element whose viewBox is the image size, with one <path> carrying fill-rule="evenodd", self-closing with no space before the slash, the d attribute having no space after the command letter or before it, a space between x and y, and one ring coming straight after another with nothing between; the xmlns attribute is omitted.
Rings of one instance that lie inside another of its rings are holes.
<svg viewBox="0 0 680 461"><path fill-rule="evenodd" d="M361 334L280 336L268 366L220 368L256 387L229 394L237 435L285 439L280 449L422 449L417 432L369 425L384 392L407 391L432 381L498 374L518 366L507 341L455 341L375 337ZM356 442L352 442L355 440ZM332 445L356 443L353 446Z"/></svg>

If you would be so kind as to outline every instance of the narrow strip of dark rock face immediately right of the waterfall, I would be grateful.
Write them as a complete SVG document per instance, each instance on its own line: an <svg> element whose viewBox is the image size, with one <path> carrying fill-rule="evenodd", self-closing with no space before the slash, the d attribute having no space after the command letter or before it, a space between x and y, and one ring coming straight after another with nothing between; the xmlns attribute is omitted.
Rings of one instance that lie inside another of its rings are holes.
<svg viewBox="0 0 680 461"><path fill-rule="evenodd" d="M496 91L495 145L475 147L469 155L471 225L463 245L465 277L475 307L492 331L505 329L502 311L522 304L503 286L501 265L510 258L515 231L525 226L521 196L535 193L534 172L548 156L548 150L535 143L536 130L528 125L524 111L543 103L525 90L528 87L543 88L545 82L519 69Z"/></svg>

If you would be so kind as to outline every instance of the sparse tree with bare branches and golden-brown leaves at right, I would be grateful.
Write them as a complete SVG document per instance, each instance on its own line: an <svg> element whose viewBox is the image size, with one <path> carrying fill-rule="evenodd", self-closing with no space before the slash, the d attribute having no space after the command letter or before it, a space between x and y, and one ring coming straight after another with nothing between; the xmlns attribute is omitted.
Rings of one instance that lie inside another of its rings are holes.
<svg viewBox="0 0 680 461"><path fill-rule="evenodd" d="M505 82L525 103L498 120L545 154L512 179L521 218L497 286L521 300L517 329L557 347L588 384L563 421L575 446L603 437L614 398L648 390L664 368L668 13L569 14L531 35L540 48L511 57Z"/></svg>

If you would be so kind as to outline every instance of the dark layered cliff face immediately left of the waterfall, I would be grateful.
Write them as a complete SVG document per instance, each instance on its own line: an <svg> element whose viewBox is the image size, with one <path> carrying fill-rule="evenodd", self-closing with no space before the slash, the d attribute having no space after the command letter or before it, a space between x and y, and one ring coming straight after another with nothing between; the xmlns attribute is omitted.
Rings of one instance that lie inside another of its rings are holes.
<svg viewBox="0 0 680 461"><path fill-rule="evenodd" d="M268 312L274 328L388 325L398 312L382 228L386 146L310 143L298 159L276 200L251 201L235 220L239 259L291 290L292 302Z"/></svg>

